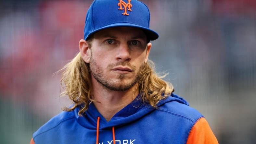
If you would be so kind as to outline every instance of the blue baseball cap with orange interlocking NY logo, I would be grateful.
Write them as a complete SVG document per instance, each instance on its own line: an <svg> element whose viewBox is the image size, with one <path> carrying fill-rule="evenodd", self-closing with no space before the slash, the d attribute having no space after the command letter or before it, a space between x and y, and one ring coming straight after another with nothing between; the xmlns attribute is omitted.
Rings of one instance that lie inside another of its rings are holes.
<svg viewBox="0 0 256 144"><path fill-rule="evenodd" d="M107 28L135 27L145 32L148 41L153 41L159 36L149 29L149 21L149 9L140 1L94 0L85 18L84 39Z"/></svg>

